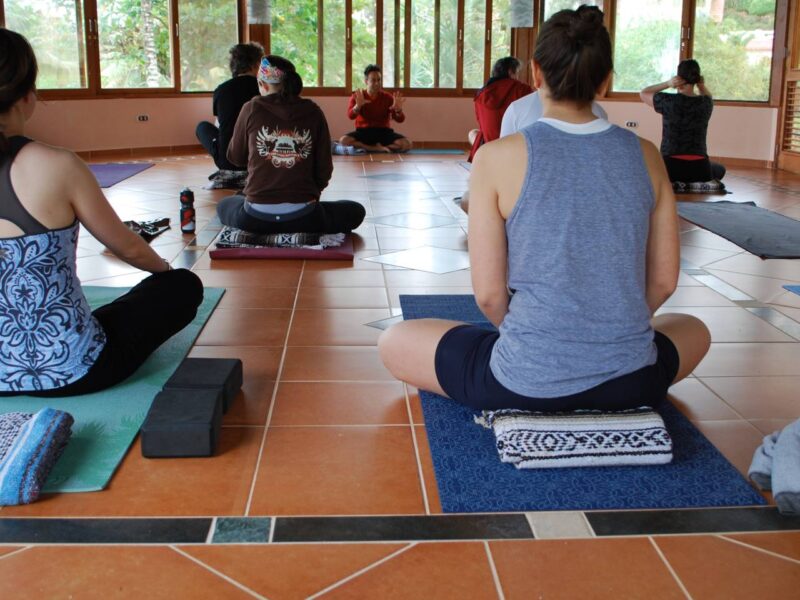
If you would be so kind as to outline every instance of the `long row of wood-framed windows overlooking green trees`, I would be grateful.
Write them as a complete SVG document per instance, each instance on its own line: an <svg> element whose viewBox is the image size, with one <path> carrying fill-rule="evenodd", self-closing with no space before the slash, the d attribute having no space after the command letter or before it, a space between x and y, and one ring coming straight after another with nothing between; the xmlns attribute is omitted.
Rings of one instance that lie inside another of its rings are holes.
<svg viewBox="0 0 800 600"><path fill-rule="evenodd" d="M245 0L0 0L0 18L30 39L45 97L209 92L248 34L294 62L312 95L350 93L369 63L388 88L470 95L515 46L529 58L544 20L592 4L612 39L612 97L634 97L695 58L717 100L777 102L772 52L789 2L534 0L534 26L518 30L512 0L269 0L269 26L252 27Z"/></svg>

